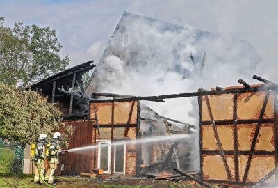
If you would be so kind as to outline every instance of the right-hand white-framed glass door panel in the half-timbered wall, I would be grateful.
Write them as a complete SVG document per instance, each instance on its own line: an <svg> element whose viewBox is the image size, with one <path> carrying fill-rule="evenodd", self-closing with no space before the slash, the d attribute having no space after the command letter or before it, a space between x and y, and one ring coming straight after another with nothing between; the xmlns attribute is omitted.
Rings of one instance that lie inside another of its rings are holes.
<svg viewBox="0 0 278 188"><path fill-rule="evenodd" d="M125 173L126 169L126 145L115 145L114 173Z"/></svg>

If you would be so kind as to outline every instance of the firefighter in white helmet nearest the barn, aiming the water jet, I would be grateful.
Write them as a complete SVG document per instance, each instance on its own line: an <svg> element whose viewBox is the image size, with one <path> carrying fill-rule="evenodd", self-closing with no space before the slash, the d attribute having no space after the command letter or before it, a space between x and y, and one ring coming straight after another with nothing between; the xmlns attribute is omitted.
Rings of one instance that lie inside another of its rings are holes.
<svg viewBox="0 0 278 188"><path fill-rule="evenodd" d="M63 150L60 148L60 141L62 141L60 132L55 132L49 146L49 169L47 170L47 175L45 175L45 180L49 184L54 184L54 173L58 166L58 158L60 155L63 155Z"/></svg>

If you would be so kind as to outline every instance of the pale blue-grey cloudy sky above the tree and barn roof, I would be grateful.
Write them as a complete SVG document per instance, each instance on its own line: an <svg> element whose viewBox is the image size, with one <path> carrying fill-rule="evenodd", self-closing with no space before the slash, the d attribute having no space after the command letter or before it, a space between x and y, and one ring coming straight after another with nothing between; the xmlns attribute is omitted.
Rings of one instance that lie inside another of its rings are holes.
<svg viewBox="0 0 278 188"><path fill-rule="evenodd" d="M97 61L127 11L247 40L271 68L278 59L277 7L274 0L0 0L0 17L8 26L23 22L55 29L69 67Z"/></svg>

